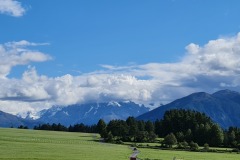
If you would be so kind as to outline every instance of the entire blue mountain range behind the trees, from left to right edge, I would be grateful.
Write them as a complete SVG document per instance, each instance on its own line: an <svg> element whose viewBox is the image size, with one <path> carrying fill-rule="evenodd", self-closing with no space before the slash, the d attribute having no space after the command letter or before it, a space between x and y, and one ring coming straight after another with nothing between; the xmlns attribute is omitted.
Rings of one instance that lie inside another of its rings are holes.
<svg viewBox="0 0 240 160"><path fill-rule="evenodd" d="M205 113L222 128L240 127L240 93L221 90L213 94L197 92L161 105L153 110L134 102L108 102L76 104L70 106L53 106L38 113L38 119L17 117L0 111L0 127L33 127L39 123L61 123L65 126L76 123L96 124L99 119L109 122L112 119L126 119L129 116L139 120L155 121L162 119L165 111L170 109L190 109Z"/></svg>

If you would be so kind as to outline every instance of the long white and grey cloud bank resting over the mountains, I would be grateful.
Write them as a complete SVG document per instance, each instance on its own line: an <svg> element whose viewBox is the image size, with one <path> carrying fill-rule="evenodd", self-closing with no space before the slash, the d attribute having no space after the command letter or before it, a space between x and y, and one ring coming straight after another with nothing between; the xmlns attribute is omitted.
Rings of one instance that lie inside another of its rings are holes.
<svg viewBox="0 0 240 160"><path fill-rule="evenodd" d="M0 110L16 114L52 105L128 100L160 104L199 91L240 91L240 33L204 46L189 44L175 63L102 65L100 71L60 77L38 75L36 68L29 67L22 78L8 78L13 66L50 59L28 49L29 45L39 44L20 41L0 45Z"/></svg>

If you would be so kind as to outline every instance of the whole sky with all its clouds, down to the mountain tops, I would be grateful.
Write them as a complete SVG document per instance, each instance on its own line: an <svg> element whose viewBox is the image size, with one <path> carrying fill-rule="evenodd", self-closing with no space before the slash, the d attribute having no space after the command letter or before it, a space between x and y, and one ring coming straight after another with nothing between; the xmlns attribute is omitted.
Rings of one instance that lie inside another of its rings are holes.
<svg viewBox="0 0 240 160"><path fill-rule="evenodd" d="M238 0L0 0L0 110L240 91Z"/></svg>

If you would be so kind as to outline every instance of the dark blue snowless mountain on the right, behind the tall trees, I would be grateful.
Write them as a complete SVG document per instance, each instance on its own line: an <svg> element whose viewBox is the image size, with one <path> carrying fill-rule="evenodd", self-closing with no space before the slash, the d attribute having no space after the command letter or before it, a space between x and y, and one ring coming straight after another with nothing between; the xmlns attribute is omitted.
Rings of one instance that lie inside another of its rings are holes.
<svg viewBox="0 0 240 160"><path fill-rule="evenodd" d="M221 90L214 94L193 93L144 113L137 119L155 121L162 119L165 111L180 108L203 112L223 128L240 127L240 93L230 90Z"/></svg>

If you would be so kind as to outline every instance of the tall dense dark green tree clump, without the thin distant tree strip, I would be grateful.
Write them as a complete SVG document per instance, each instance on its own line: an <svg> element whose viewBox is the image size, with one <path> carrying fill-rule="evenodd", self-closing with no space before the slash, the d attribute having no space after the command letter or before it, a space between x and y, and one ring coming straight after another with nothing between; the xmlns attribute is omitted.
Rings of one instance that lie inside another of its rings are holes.
<svg viewBox="0 0 240 160"><path fill-rule="evenodd" d="M155 138L174 137L176 142L195 142L199 145L208 143L219 146L223 143L223 130L204 113L174 109L166 111L162 120L139 121L129 117L126 121L111 120L106 124L100 120L97 124L99 134L106 140L117 139L132 142L152 142ZM166 145L173 145L163 141Z"/></svg>

